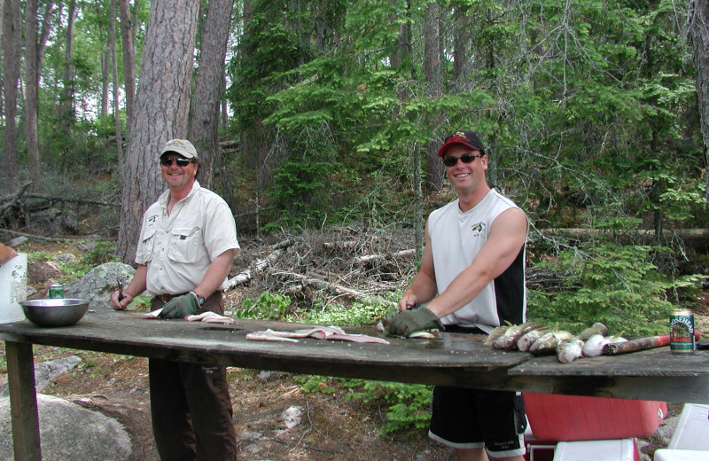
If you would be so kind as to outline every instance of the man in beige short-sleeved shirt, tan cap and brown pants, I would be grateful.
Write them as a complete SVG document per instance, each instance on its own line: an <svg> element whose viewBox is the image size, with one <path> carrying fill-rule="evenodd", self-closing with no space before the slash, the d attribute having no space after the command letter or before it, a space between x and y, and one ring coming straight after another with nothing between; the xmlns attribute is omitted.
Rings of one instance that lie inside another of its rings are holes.
<svg viewBox="0 0 709 461"><path fill-rule="evenodd" d="M199 185L198 170L189 141L173 139L163 147L160 171L168 190L144 214L136 273L122 293L113 293L114 309L126 309L147 291L162 318L207 310L223 315L222 289L239 249L236 223L227 203ZM160 458L236 459L226 369L150 359L149 371Z"/></svg>

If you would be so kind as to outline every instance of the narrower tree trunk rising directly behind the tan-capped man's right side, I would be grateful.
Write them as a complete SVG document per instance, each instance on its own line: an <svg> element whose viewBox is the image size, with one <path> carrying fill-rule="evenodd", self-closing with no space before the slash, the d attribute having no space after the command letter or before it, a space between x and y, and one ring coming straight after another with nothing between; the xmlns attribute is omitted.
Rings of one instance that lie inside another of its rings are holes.
<svg viewBox="0 0 709 461"><path fill-rule="evenodd" d="M212 188L215 162L220 156L219 98L224 59L231 26L233 0L210 0L206 25L202 27L199 70L195 84L190 140L199 152L199 184Z"/></svg>

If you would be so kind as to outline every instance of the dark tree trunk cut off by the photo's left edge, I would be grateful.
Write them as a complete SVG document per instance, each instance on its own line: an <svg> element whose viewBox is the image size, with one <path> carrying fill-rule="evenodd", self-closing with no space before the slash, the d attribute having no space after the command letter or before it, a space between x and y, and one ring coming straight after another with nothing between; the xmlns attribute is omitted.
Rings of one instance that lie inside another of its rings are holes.
<svg viewBox="0 0 709 461"><path fill-rule="evenodd" d="M3 63L4 63L4 135L3 172L7 179L17 176L17 96L19 82L19 53L22 40L22 20L19 0L4 0L3 5Z"/></svg>

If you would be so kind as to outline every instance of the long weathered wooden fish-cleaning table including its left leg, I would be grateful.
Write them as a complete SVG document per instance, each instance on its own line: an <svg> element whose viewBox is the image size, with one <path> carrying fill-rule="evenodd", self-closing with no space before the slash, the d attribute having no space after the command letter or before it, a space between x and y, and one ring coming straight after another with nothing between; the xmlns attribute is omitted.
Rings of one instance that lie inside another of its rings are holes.
<svg viewBox="0 0 709 461"><path fill-rule="evenodd" d="M141 318L141 313L90 310L78 324L40 328L0 324L5 341L15 459L40 460L33 344L128 356L220 364L256 370L440 384L544 394L663 402L709 402L709 352L687 356L656 348L558 363L483 346L485 336L440 332L435 340L386 338L390 344L302 339L246 340L247 332L297 330L306 324L238 319L234 324ZM384 337L372 327L349 333Z"/></svg>

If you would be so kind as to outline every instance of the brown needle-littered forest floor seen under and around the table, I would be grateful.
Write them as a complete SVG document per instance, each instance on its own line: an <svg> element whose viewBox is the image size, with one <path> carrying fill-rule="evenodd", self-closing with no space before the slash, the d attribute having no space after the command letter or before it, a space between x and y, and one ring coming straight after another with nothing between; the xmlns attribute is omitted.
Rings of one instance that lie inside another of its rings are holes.
<svg viewBox="0 0 709 461"><path fill-rule="evenodd" d="M256 243L252 247L253 257L268 251ZM32 243L22 251L79 254L84 250L64 242ZM57 264L30 262L28 266L27 284L37 290L39 297L42 297L40 293L46 293L51 278L61 275ZM230 301L238 303L253 289L253 286L236 288L230 293ZM702 332L703 337L709 333L707 301L709 292L697 299L695 309L697 331ZM43 393L66 398L117 419L133 443L130 461L159 459L152 441L147 359L44 346L35 346L34 351L35 363L80 356L82 363L54 379ZM4 350L2 354L4 356ZM455 459L450 449L427 437L426 429L381 435L384 409L379 408L378 403L347 398L350 390L342 386L339 379L319 377L316 391L310 390L313 386L304 390L304 379L291 373L229 369L239 461ZM681 410L682 404L672 403L668 416L676 416ZM655 437L643 441L646 459L651 459L655 449L664 448Z"/></svg>

